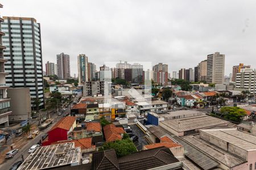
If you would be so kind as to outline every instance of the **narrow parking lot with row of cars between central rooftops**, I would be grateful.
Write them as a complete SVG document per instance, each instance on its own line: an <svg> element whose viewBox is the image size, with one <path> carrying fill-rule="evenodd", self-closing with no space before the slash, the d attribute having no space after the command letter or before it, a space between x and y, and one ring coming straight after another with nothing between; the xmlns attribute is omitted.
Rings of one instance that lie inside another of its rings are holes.
<svg viewBox="0 0 256 170"><path fill-rule="evenodd" d="M138 128L137 125L129 125L131 129L133 130L133 134L137 135L139 137L138 142L135 142L134 145L137 147L137 149L140 151L143 149L144 145L148 145L147 141L144 139L144 133L141 129Z"/></svg>

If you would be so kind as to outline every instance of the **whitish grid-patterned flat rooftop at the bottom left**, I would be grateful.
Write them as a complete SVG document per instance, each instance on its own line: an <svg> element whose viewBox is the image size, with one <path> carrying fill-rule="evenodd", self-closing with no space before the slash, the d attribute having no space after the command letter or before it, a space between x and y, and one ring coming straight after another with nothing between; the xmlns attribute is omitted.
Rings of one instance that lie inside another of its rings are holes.
<svg viewBox="0 0 256 170"><path fill-rule="evenodd" d="M80 164L81 149L74 142L42 146L28 155L19 169L35 170L59 167L68 164Z"/></svg>

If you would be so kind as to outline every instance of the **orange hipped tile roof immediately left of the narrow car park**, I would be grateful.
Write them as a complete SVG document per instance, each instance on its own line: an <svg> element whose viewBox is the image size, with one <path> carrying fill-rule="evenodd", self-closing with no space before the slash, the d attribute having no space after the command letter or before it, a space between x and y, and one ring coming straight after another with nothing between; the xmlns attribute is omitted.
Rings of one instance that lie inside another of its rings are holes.
<svg viewBox="0 0 256 170"><path fill-rule="evenodd" d="M104 126L104 134L106 142L113 142L122 139L123 128L117 128L114 124Z"/></svg>

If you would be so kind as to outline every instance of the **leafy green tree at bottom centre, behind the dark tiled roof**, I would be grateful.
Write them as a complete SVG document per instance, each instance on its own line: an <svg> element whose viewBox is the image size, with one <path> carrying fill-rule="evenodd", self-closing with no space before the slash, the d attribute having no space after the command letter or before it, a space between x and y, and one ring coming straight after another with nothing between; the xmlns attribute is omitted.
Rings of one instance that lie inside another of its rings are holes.
<svg viewBox="0 0 256 170"><path fill-rule="evenodd" d="M121 141L106 142L102 147L100 147L100 151L111 149L115 150L118 158L137 152L137 149L130 138L122 139Z"/></svg>

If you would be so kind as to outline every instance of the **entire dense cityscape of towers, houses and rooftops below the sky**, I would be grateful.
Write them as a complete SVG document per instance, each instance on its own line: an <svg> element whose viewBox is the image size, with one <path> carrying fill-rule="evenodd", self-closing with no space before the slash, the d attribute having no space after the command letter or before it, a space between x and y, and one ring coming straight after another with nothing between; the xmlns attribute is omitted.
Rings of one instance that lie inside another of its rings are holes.
<svg viewBox="0 0 256 170"><path fill-rule="evenodd" d="M43 65L35 18L0 24L0 169L256 169L250 65L226 76L209 52L171 74L160 58L98 68L78 53L71 75L64 52Z"/></svg>

